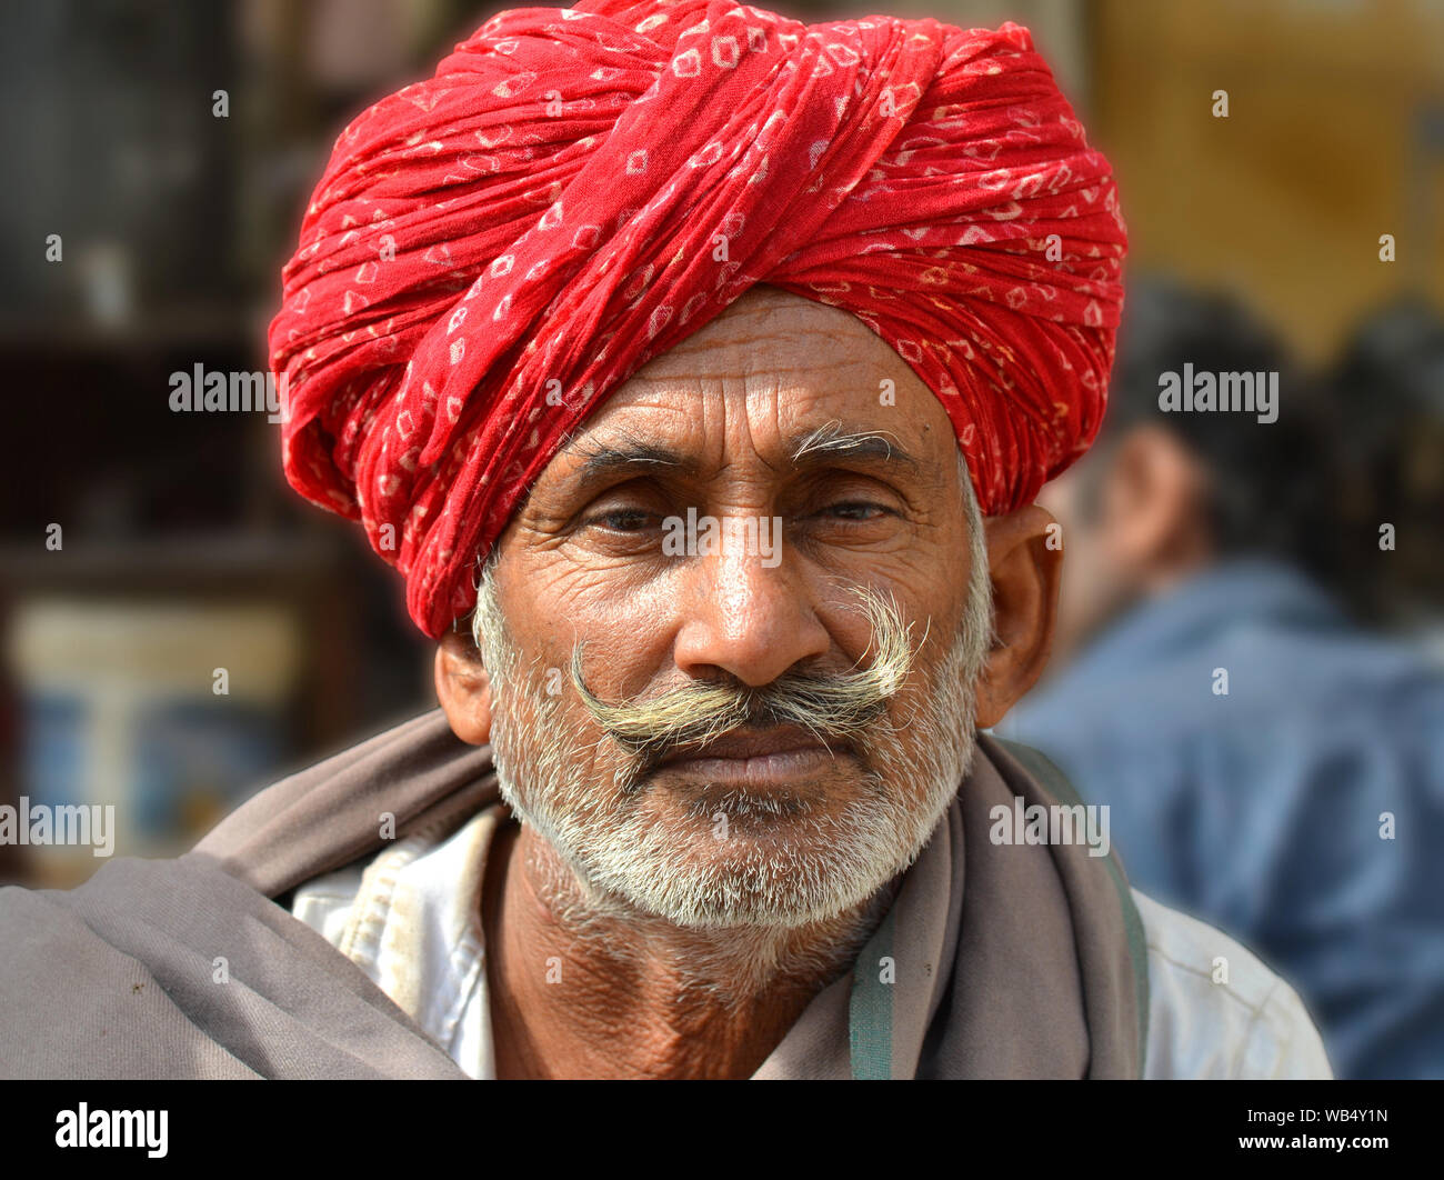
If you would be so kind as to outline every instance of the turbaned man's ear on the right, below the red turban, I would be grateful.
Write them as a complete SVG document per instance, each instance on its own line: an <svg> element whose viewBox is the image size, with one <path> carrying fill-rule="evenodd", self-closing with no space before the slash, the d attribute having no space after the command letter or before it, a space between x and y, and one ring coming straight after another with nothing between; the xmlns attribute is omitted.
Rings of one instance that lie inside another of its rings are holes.
<svg viewBox="0 0 1444 1180"><path fill-rule="evenodd" d="M1050 524L1037 504L983 520L996 640L978 680L979 729L1002 721L1048 663L1063 569L1063 550L1047 543Z"/></svg>

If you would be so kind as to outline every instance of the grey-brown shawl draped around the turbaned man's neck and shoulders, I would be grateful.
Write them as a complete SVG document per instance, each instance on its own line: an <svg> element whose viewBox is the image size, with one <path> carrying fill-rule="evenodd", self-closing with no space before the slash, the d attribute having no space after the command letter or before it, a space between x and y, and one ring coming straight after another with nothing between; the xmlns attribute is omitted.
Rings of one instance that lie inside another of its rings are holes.
<svg viewBox="0 0 1444 1180"><path fill-rule="evenodd" d="M1034 758L979 738L856 966L757 1077L1139 1075L1147 975L1116 859L989 839L995 804L1058 802L1040 777L1067 791ZM176 859L0 890L0 1076L465 1079L274 898L374 854L387 812L404 836L497 799L490 750L433 711L267 787Z"/></svg>

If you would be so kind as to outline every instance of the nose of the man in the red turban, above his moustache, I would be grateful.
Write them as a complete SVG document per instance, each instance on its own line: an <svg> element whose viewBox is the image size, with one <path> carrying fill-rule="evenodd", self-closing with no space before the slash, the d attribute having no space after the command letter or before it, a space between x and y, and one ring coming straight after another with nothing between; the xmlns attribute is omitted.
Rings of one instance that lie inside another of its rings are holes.
<svg viewBox="0 0 1444 1180"><path fill-rule="evenodd" d="M775 565L752 553L690 558L679 596L674 660L689 676L706 679L721 669L761 687L832 647L786 546Z"/></svg>

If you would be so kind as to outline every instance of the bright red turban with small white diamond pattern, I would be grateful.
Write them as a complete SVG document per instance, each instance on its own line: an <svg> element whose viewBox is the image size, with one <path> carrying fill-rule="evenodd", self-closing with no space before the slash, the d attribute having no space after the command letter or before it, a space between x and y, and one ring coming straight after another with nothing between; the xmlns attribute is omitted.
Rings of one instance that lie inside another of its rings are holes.
<svg viewBox="0 0 1444 1180"><path fill-rule="evenodd" d="M270 328L286 477L438 637L563 436L768 283L897 350L1009 511L1097 432L1123 251L1017 25L503 12L336 140Z"/></svg>

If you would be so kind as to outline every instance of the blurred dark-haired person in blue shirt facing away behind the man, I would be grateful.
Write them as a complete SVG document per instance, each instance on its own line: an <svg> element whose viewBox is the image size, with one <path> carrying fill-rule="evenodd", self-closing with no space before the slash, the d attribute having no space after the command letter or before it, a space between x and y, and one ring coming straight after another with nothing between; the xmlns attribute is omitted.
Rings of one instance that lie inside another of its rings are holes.
<svg viewBox="0 0 1444 1180"><path fill-rule="evenodd" d="M1276 419L1164 409L1186 365L1276 373ZM1292 981L1339 1076L1437 1077L1444 672L1344 605L1398 556L1346 503L1388 448L1330 429L1366 371L1320 386L1236 300L1135 279L1099 442L1040 497L1051 674L999 732L1109 804L1136 887Z"/></svg>

